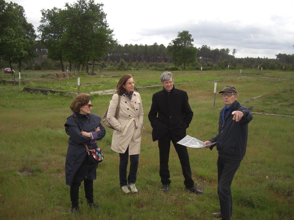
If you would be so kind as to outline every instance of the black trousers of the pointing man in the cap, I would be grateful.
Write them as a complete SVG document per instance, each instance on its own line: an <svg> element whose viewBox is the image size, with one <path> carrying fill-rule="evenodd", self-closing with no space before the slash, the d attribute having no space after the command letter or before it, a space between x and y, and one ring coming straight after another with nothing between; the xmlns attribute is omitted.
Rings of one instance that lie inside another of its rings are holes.
<svg viewBox="0 0 294 220"><path fill-rule="evenodd" d="M218 198L222 220L230 220L232 213L231 183L240 166L240 160L218 157Z"/></svg>

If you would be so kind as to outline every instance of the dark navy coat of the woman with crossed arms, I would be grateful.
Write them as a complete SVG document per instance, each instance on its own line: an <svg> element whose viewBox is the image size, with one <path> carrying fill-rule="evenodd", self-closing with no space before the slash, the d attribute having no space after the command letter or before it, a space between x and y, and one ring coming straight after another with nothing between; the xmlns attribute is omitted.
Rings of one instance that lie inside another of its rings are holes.
<svg viewBox="0 0 294 220"><path fill-rule="evenodd" d="M78 124L79 121L79 124ZM100 131L97 133L97 140L101 140L105 134L105 128L101 125L101 117L94 114L81 115L78 114L78 121L74 114L67 118L65 123L66 133L69 135L69 145L65 160L65 180L66 185L72 185L73 182L81 182L83 180L96 180L96 169L98 164L89 164L86 147L89 149L98 148L97 143L93 143L90 138L81 134L81 129L86 132L95 132L97 126ZM91 144L93 143L93 144ZM100 146L99 146L100 147Z"/></svg>

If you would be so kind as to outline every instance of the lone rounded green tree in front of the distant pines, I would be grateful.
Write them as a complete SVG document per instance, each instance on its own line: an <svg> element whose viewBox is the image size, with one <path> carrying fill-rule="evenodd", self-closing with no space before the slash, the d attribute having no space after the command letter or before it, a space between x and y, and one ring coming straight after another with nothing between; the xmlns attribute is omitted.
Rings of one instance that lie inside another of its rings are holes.
<svg viewBox="0 0 294 220"><path fill-rule="evenodd" d="M183 65L183 69L186 69L186 65L195 62L197 55L197 48L193 46L194 39L189 31L178 32L178 37L172 40L166 48L166 52L171 56L175 65Z"/></svg>

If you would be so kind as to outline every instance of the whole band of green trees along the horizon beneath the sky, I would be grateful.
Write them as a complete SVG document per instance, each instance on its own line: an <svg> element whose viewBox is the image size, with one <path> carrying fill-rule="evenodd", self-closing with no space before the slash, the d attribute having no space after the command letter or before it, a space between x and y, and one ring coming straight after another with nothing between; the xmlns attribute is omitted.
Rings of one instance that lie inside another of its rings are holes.
<svg viewBox="0 0 294 220"><path fill-rule="evenodd" d="M294 54L277 54L276 59L235 58L234 48L213 49L208 45L194 47L189 31L178 32L177 38L167 47L117 43L113 30L108 27L103 4L94 0L78 0L65 4L64 9L43 9L36 35L31 23L26 21L24 9L16 3L0 0L0 61L13 63L25 69L60 68L65 66L88 67L87 63L101 63L105 68L123 70L149 68L151 70L230 68L257 68L294 70ZM9 15L9 16L7 16ZM39 40L36 40L36 38ZM3 48L3 49L2 49ZM57 66L59 65L59 67ZM88 71L86 69L86 71Z"/></svg>

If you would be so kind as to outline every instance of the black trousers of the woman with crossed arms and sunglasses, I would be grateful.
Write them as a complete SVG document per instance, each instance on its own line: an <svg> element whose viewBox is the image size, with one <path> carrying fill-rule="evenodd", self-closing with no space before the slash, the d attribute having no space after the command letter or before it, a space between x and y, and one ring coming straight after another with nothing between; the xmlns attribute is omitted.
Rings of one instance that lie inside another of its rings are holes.
<svg viewBox="0 0 294 220"><path fill-rule="evenodd" d="M70 188L71 193L71 207L78 207L78 190L80 188L81 182L73 182ZM84 180L85 197L88 203L94 203L93 200L93 180Z"/></svg>

